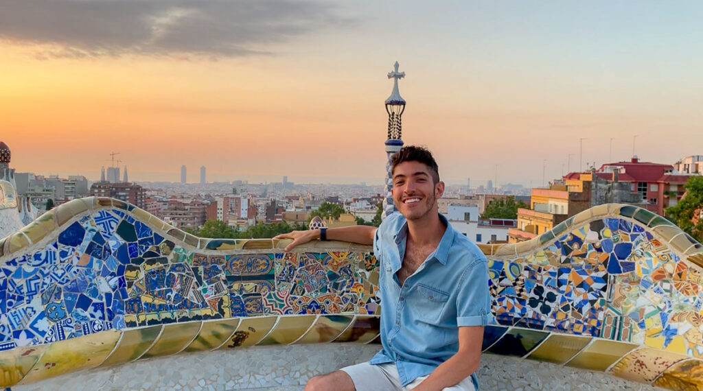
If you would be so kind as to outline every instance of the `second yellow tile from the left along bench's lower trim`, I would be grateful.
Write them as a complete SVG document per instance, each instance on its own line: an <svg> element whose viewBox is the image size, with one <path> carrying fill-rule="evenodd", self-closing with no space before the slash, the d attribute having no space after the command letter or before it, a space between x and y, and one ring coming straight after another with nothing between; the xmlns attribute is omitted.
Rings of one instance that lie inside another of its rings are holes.
<svg viewBox="0 0 703 391"><path fill-rule="evenodd" d="M51 343L19 384L95 368L108 357L119 339L120 331L106 330Z"/></svg>

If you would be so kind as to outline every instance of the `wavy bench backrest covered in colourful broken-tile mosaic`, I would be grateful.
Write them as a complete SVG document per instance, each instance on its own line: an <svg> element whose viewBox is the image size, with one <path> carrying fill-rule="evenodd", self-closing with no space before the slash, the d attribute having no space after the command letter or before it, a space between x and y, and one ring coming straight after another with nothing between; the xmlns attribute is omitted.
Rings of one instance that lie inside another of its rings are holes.
<svg viewBox="0 0 703 391"><path fill-rule="evenodd" d="M60 205L0 240L0 385L170 354L378 343L370 248L287 243L194 237L115 199ZM601 205L481 248L490 360L703 387L703 246L668 220Z"/></svg>

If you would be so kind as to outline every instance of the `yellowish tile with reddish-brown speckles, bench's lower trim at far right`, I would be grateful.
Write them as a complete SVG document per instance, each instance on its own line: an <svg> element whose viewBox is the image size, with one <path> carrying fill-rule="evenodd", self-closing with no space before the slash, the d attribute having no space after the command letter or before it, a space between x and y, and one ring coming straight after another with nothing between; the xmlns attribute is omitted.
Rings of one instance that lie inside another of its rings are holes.
<svg viewBox="0 0 703 391"><path fill-rule="evenodd" d="M623 357L610 372L621 378L650 383L669 366L686 358L685 354L643 347Z"/></svg>

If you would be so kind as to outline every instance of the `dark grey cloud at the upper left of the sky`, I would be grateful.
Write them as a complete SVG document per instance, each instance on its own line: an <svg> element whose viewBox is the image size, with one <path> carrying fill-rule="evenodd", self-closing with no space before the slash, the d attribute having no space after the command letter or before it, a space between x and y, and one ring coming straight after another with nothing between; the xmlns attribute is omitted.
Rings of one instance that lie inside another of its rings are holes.
<svg viewBox="0 0 703 391"><path fill-rule="evenodd" d="M348 23L312 0L0 0L0 41L39 59L220 58Z"/></svg>

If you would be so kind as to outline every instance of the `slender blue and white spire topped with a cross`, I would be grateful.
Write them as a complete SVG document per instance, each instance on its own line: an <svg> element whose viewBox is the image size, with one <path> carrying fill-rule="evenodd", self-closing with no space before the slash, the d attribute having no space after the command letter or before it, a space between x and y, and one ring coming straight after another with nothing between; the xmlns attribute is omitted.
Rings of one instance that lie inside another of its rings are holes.
<svg viewBox="0 0 703 391"><path fill-rule="evenodd" d="M405 111L405 100L401 97L398 91L398 79L405 77L405 72L398 72L398 62L394 64L394 71L388 72L388 79L393 80L393 92L386 99L386 112L388 113L388 140L386 140L386 154L388 155L388 161L386 163L386 197L383 199L383 213L381 218L386 218L391 213L396 211L395 205L393 204L393 178L391 173L391 158L396 152L398 152L401 147L403 147L403 140L401 140L402 123L401 115Z"/></svg>

